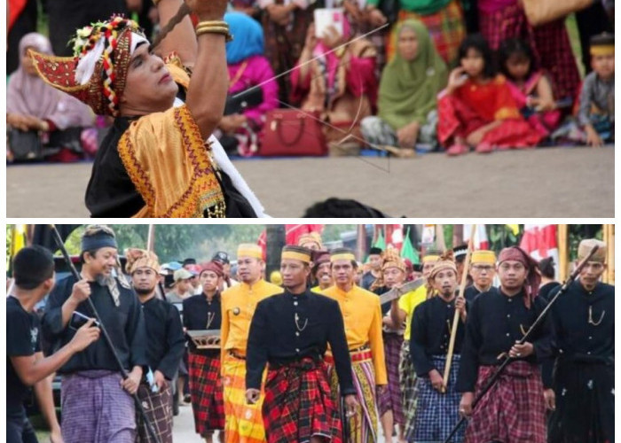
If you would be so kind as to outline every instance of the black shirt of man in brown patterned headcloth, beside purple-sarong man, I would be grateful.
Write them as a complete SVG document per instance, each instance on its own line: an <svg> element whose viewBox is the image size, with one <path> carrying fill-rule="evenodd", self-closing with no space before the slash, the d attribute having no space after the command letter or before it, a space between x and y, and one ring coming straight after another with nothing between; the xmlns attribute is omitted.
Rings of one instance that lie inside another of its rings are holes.
<svg viewBox="0 0 621 443"><path fill-rule="evenodd" d="M168 301L150 299L142 305L145 315L149 368L172 380L184 355L185 339L177 308Z"/></svg>

